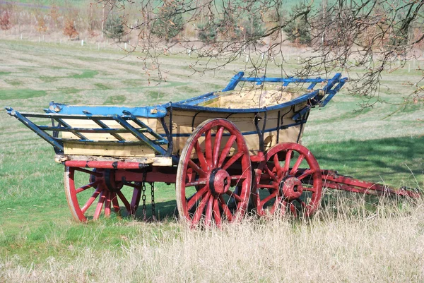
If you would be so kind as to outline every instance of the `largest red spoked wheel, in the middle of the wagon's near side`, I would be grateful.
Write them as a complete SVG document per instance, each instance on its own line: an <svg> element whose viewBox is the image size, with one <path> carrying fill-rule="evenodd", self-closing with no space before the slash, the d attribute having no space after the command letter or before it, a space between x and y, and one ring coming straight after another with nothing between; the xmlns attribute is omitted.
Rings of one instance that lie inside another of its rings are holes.
<svg viewBox="0 0 424 283"><path fill-rule="evenodd" d="M187 140L177 169L177 207L192 226L240 219L249 202L252 170L242 133L230 121L210 119Z"/></svg>

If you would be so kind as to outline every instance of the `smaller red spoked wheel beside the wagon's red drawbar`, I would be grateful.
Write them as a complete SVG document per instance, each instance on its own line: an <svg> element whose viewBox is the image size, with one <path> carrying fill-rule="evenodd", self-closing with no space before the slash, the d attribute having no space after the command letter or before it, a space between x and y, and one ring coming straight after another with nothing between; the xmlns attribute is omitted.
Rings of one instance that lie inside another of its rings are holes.
<svg viewBox="0 0 424 283"><path fill-rule="evenodd" d="M312 215L319 207L322 176L317 159L298 143L280 143L266 152L255 170L252 198L259 215Z"/></svg>

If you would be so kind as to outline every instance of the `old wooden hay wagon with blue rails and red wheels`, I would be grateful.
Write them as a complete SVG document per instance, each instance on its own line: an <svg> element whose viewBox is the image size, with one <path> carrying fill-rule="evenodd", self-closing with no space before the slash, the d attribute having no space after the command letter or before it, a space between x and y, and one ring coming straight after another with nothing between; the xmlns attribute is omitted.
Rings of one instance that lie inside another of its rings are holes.
<svg viewBox="0 0 424 283"><path fill-rule="evenodd" d="M148 107L76 106L51 102L44 114L6 107L54 147L64 164L73 218L111 213L146 217L146 183L175 183L179 216L192 225L258 215L312 215L323 183L360 193L396 193L322 170L300 145L313 107L324 107L346 83L333 78L245 78L221 91ZM240 88L241 87L241 88ZM236 90L237 89L237 90Z"/></svg>

